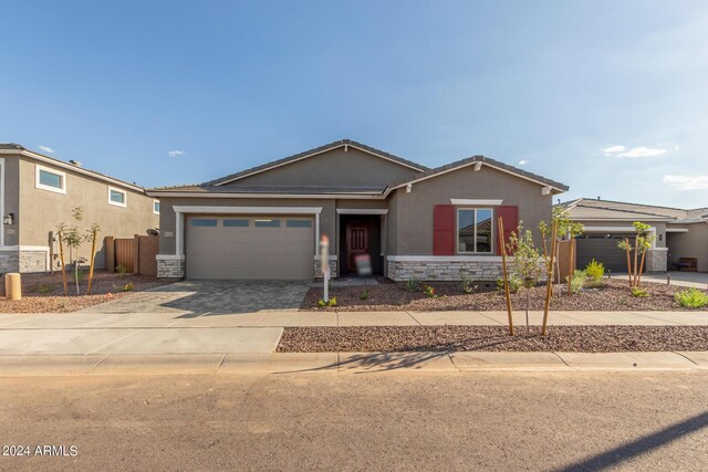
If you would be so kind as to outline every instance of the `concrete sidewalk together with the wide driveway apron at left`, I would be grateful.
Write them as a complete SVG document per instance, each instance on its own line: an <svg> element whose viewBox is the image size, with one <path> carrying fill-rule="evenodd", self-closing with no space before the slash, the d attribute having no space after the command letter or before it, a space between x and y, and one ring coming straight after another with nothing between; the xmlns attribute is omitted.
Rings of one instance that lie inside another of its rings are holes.
<svg viewBox="0 0 708 472"><path fill-rule="evenodd" d="M514 324L525 315L514 312ZM529 315L532 325L543 314ZM289 326L502 326L506 312L0 315L0 356L273 353ZM708 326L708 312L553 312L550 324Z"/></svg>

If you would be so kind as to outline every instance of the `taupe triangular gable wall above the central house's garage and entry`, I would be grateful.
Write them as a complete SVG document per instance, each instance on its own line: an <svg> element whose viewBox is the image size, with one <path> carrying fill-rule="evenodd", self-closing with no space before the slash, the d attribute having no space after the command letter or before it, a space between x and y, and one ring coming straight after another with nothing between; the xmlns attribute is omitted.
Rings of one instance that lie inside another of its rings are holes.
<svg viewBox="0 0 708 472"><path fill-rule="evenodd" d="M353 186L385 187L416 174L409 167L348 148L333 149L266 172L237 180L228 186Z"/></svg>

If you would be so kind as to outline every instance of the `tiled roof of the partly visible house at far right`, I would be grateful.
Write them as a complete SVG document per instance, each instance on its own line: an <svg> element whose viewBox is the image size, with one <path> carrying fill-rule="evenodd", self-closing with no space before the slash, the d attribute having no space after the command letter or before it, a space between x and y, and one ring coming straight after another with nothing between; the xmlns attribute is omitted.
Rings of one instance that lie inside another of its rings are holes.
<svg viewBox="0 0 708 472"><path fill-rule="evenodd" d="M560 206L568 208L570 217L575 220L652 220L685 223L708 221L708 208L684 210L591 198L581 198Z"/></svg>

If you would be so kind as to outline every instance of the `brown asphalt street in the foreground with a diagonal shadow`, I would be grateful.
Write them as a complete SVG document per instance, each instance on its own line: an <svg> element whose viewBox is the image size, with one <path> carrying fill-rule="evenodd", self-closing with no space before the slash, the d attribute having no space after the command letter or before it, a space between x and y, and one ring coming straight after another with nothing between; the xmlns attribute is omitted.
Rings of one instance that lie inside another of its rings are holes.
<svg viewBox="0 0 708 472"><path fill-rule="evenodd" d="M705 470L707 391L708 371L4 377L1 442L30 455L0 469Z"/></svg>

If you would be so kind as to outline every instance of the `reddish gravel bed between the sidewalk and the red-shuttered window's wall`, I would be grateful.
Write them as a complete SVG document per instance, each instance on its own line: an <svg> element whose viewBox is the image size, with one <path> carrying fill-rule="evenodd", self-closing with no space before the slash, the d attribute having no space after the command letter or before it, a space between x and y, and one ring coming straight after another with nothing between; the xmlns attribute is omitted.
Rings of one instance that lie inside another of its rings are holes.
<svg viewBox="0 0 708 472"><path fill-rule="evenodd" d="M302 311L340 312L393 312L393 311L503 311L507 303L503 294L493 282L480 282L477 292L466 294L459 283L430 282L439 297L427 296L423 291L408 292L405 284L383 283L367 286L341 286L330 290L330 297L336 297L336 306L321 307L322 289L310 289L300 306ZM633 296L624 279L605 280L598 289L583 289L580 293L568 295L566 285L553 287L552 310L563 311L689 311L681 307L674 294L685 287L645 283L642 289L648 296ZM513 310L525 307L527 292L521 290L511 295ZM529 308L543 310L545 286L529 291Z"/></svg>

